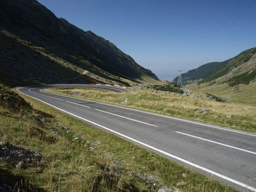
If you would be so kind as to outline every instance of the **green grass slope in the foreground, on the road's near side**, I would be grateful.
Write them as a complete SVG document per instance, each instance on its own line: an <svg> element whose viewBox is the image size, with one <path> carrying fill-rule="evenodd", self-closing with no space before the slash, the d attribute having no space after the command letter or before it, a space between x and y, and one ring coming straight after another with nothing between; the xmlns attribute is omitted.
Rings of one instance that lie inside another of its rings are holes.
<svg viewBox="0 0 256 192"><path fill-rule="evenodd" d="M36 150L47 163L43 169L15 169L1 162L1 181L16 185L20 191L157 191L162 185L176 187L181 180L186 183L177 187L181 191L235 191L39 101L22 97L33 109L12 112L12 105L0 107L1 140ZM45 118L45 123L38 125L35 117ZM61 132L61 136L53 134L45 124ZM148 183L146 177L158 180L157 185Z"/></svg>

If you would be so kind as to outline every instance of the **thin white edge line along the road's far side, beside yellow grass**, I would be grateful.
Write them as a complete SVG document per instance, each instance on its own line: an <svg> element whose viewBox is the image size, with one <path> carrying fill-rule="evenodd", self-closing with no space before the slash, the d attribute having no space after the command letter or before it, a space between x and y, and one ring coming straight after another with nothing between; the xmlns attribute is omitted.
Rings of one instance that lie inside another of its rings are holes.
<svg viewBox="0 0 256 192"><path fill-rule="evenodd" d="M46 91L42 91L42 92L50 93L50 92L46 92ZM50 94L53 94L53 95L56 95L56 96L65 96L65 95L56 94L56 93L50 93ZM75 97L75 96L66 96L66 97L69 97L69 98L72 98L72 99L80 99L80 100L83 100L83 101L92 101L92 100L89 100L89 99L82 99L82 98L78 98L78 97ZM200 125L200 126L208 126L208 127L211 127L211 128L217 128L217 129L221 129L221 130L224 130L224 131L230 131L230 132L237 133L237 134L245 134L245 135L249 135L249 136L252 136L252 137L256 137L256 134L248 134L248 133L245 133L245 132L233 130L231 128L222 128L222 127L218 127L218 126L211 126L211 125L204 124L204 123L198 123L198 122L195 122L195 121L192 121L192 120L185 120L185 119L181 119L181 118L170 117L170 116L167 116L167 115L160 115L160 114L153 113L153 112L135 110L135 109L132 109L132 108L129 108L129 107L121 107L121 106L114 105L114 104L106 104L106 103L103 103L103 102L100 102L100 101L93 101L93 102L95 102L97 104L105 104L105 105L112 106L112 107L118 107L118 108L121 108L121 109L124 109L124 110L143 112L143 113L146 113L146 114L149 114L149 115L156 115L156 116L159 116L159 117L162 117L162 118L181 120L181 121L184 121L184 122L187 122L187 123L194 123L194 124L197 124L197 125Z"/></svg>

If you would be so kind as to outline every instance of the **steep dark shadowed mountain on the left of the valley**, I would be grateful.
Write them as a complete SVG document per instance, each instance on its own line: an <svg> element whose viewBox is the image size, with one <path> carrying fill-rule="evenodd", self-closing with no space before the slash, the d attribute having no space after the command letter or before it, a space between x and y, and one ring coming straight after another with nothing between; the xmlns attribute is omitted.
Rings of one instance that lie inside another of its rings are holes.
<svg viewBox="0 0 256 192"><path fill-rule="evenodd" d="M1 81L158 80L113 43L56 18L35 0L0 1L0 41Z"/></svg>

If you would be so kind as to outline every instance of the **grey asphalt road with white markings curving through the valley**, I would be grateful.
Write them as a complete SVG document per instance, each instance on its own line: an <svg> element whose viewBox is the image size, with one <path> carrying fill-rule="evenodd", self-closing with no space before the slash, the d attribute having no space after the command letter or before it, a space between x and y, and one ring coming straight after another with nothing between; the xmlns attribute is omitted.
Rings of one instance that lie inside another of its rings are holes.
<svg viewBox="0 0 256 192"><path fill-rule="evenodd" d="M53 87L128 91L99 85L48 85L18 91L239 191L256 191L256 134L42 91Z"/></svg>

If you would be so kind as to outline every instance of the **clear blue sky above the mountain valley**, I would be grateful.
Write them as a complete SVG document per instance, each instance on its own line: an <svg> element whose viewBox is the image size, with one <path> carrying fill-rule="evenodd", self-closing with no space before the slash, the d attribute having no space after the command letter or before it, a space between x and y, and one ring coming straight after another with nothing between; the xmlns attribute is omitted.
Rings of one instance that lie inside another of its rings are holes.
<svg viewBox="0 0 256 192"><path fill-rule="evenodd" d="M39 0L160 78L256 46L256 0Z"/></svg>

